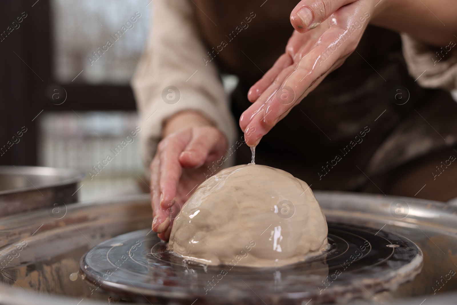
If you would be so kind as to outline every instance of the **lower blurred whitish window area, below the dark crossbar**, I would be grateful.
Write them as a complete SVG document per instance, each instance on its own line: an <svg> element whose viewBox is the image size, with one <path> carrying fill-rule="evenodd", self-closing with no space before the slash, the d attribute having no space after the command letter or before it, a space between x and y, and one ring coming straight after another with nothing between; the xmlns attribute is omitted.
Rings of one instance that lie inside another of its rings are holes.
<svg viewBox="0 0 457 305"><path fill-rule="evenodd" d="M136 126L136 112L43 112L38 165L84 172L80 200L149 191L138 149L141 131L131 135ZM107 155L111 161L104 161Z"/></svg>

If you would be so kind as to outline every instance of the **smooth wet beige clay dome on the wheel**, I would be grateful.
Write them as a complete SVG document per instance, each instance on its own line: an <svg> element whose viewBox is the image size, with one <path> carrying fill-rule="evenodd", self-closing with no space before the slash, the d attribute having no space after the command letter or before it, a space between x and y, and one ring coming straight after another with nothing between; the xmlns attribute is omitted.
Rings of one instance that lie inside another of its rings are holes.
<svg viewBox="0 0 457 305"><path fill-rule="evenodd" d="M175 219L169 249L209 265L276 267L321 254L327 233L308 184L250 164L224 169L197 188Z"/></svg>

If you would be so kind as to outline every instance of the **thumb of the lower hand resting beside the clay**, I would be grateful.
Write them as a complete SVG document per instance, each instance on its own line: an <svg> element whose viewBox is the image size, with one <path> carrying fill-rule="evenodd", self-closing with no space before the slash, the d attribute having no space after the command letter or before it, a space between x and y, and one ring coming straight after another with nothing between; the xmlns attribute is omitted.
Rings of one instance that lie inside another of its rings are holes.
<svg viewBox="0 0 457 305"><path fill-rule="evenodd" d="M200 167L205 163L215 146L226 146L225 137L211 126L192 128L191 133L189 144L179 156L179 161L183 167ZM220 147L217 149L221 150Z"/></svg>

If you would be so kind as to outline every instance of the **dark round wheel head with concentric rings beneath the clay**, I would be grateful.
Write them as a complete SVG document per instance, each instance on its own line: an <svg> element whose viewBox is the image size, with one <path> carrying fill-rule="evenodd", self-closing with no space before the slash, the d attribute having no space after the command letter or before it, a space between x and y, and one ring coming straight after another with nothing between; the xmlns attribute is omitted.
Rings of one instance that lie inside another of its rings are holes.
<svg viewBox="0 0 457 305"><path fill-rule="evenodd" d="M152 304L305 305L311 299L309 304L372 298L422 268L422 251L401 235L328 225L328 251L281 268L198 264L167 251L154 232L138 230L88 251L80 274L93 289Z"/></svg>

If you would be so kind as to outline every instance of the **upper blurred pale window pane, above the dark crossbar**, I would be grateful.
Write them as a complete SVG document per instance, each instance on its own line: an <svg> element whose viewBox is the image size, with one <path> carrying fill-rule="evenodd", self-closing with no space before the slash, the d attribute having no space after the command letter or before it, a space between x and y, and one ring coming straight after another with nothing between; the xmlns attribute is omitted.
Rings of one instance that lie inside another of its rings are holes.
<svg viewBox="0 0 457 305"><path fill-rule="evenodd" d="M74 82L128 84L147 40L154 2L52 0L51 4L55 79L69 83L82 71Z"/></svg>

